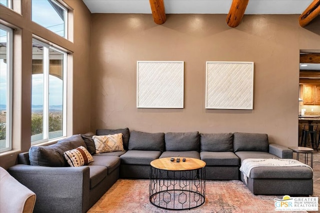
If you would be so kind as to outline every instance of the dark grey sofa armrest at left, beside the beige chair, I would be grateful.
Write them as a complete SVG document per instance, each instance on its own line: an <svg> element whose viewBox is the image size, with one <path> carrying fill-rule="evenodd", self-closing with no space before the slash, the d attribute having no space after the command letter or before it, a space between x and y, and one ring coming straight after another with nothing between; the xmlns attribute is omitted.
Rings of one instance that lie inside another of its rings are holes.
<svg viewBox="0 0 320 213"><path fill-rule="evenodd" d="M7 171L35 193L34 212L82 213L89 208L89 167L18 164Z"/></svg>

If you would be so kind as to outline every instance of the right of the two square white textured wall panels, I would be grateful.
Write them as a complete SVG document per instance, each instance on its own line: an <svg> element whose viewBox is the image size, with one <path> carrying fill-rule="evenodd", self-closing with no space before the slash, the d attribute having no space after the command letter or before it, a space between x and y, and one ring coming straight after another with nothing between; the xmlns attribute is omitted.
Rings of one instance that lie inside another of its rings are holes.
<svg viewBox="0 0 320 213"><path fill-rule="evenodd" d="M206 109L253 109L253 62L206 62Z"/></svg>

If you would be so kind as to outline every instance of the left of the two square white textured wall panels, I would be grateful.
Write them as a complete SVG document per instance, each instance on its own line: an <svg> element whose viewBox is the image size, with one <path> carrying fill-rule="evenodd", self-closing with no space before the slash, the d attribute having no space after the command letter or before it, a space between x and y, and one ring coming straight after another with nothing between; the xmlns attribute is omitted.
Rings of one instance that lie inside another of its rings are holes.
<svg viewBox="0 0 320 213"><path fill-rule="evenodd" d="M137 61L137 108L183 108L183 61Z"/></svg>

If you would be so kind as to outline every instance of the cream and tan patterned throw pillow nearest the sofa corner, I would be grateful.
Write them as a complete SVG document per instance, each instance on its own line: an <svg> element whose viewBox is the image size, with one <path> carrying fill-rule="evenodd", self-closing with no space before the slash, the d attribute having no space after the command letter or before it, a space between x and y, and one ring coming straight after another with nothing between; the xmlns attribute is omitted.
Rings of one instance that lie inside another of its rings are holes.
<svg viewBox="0 0 320 213"><path fill-rule="evenodd" d="M95 153L124 151L122 133L114 135L94 135Z"/></svg>

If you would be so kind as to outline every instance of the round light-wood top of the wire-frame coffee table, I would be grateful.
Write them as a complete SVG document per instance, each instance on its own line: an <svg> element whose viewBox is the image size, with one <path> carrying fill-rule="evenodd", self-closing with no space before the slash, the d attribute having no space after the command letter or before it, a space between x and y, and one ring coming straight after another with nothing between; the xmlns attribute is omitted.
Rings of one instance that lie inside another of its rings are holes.
<svg viewBox="0 0 320 213"><path fill-rule="evenodd" d="M173 158L173 157L172 157ZM150 165L153 168L167 171L185 171L185 170L196 170L201 169L205 166L205 162L195 158L185 158L179 157L180 162L176 162L176 157L174 161L171 162L171 158L159 158L151 161ZM182 159L185 158L185 162L182 162Z"/></svg>

